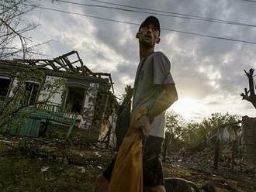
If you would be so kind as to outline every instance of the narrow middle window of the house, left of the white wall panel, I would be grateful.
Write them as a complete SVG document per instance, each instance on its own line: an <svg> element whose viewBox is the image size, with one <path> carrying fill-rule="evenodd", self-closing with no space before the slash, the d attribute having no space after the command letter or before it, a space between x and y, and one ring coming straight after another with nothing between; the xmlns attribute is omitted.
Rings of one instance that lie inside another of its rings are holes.
<svg viewBox="0 0 256 192"><path fill-rule="evenodd" d="M36 96L39 91L39 83L26 81L25 84L25 102L27 105L33 105L36 102Z"/></svg>

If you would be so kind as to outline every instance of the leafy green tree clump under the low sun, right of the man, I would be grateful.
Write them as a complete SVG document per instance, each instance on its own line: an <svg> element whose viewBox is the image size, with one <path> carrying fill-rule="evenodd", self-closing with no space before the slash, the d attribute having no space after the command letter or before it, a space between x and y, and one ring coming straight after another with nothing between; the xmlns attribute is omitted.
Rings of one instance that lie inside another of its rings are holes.
<svg viewBox="0 0 256 192"><path fill-rule="evenodd" d="M175 111L168 111L166 115L166 128L164 139L164 159L167 151L177 151L185 147L190 150L201 150L213 135L223 131L229 125L237 124L238 115L229 113L213 113L202 122L186 122L182 115Z"/></svg>

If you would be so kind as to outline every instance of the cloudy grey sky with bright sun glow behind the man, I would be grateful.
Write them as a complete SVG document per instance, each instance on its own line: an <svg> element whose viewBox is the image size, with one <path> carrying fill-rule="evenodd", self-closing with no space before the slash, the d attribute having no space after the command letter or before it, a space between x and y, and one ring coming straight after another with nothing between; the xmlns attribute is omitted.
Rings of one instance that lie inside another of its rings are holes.
<svg viewBox="0 0 256 192"><path fill-rule="evenodd" d="M227 111L231 114L255 116L255 109L251 103L241 100L240 93L244 91L244 87L248 87L244 70L256 68L256 27L178 18L181 15L173 17L166 12L256 25L256 3L242 0L102 0L106 3L95 0L69 1L87 6L46 0L41 2L42 7L81 15L47 9L35 9L30 13L29 19L40 23L39 28L27 34L32 37L33 44L52 40L47 45L40 46L43 57L53 58L77 50L92 71L112 74L116 95L119 96L126 84L133 85L139 62L135 38L138 26L135 24L140 24L148 15L156 15L162 28L161 43L156 50L164 52L171 60L171 74L178 89L179 101L171 108L185 118L193 119L207 117L213 112ZM172 30L239 39L255 44Z"/></svg>

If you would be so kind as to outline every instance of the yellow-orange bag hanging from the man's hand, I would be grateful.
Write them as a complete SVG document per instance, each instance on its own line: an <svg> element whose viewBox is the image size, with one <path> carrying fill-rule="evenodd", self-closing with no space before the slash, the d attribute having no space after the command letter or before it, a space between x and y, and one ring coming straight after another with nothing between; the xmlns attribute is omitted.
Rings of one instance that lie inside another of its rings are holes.
<svg viewBox="0 0 256 192"><path fill-rule="evenodd" d="M133 125L138 118L146 114L146 109L139 108L116 157L109 184L109 192L142 192L142 139L141 132Z"/></svg>

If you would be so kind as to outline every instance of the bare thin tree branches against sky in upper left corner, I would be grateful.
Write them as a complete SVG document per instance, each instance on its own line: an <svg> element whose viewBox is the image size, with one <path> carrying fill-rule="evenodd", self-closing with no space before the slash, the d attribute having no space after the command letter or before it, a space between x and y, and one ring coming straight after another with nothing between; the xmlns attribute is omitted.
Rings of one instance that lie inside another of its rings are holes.
<svg viewBox="0 0 256 192"><path fill-rule="evenodd" d="M25 16L36 8L33 2L39 1L0 1L0 59L21 55L25 59L27 54L37 54L35 46L28 46L31 39L26 37L26 32L38 26L25 21Z"/></svg>

